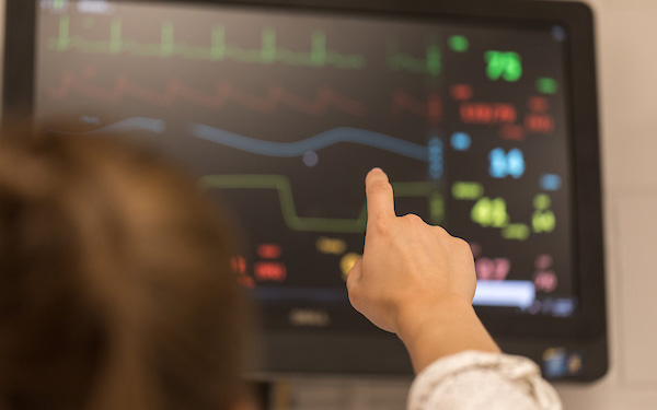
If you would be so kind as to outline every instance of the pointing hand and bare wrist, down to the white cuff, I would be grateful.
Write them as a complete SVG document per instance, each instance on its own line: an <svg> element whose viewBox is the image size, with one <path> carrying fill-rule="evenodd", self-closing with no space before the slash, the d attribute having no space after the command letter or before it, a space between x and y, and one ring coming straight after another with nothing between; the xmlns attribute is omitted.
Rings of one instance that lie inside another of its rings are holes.
<svg viewBox="0 0 657 410"><path fill-rule="evenodd" d="M498 351L472 309L476 274L468 243L417 215L396 216L392 186L379 168L368 174L366 195L365 251L347 277L354 308L397 333L416 370L461 347ZM426 351L434 342L440 344Z"/></svg>

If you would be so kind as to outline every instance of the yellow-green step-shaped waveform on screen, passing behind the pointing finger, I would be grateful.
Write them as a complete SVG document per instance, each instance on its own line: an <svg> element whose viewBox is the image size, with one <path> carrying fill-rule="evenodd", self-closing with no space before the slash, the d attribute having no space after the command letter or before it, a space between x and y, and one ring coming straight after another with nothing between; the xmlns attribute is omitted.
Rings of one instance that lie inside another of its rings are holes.
<svg viewBox="0 0 657 410"><path fill-rule="evenodd" d="M357 219L306 218L297 214L290 180L284 175L208 175L199 180L201 189L276 189L286 225L292 231L364 233L367 225L367 206L364 204ZM442 197L433 183L394 183L395 197L427 197L430 199L431 219L442 218ZM439 223L440 221L431 221Z"/></svg>

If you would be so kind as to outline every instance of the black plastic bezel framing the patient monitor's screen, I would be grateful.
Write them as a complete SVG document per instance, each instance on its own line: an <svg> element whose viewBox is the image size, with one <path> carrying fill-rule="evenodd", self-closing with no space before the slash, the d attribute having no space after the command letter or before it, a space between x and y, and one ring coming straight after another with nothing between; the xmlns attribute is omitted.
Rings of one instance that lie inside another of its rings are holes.
<svg viewBox="0 0 657 410"><path fill-rule="evenodd" d="M120 2L122 0L114 0ZM131 0L152 2L153 0ZM162 3L181 3L180 0L158 0ZM598 129L596 56L593 42L593 16L591 10L581 3L553 1L486 1L469 0L458 2L395 1L395 0L195 0L188 4L224 4L278 10L367 14L395 17L451 19L466 21L508 22L511 25L532 23L554 23L564 26L569 33L567 72L570 79L569 101L573 177L573 216L575 236L575 269L579 281L579 308L573 317L518 316L500 317L482 313L487 328L499 340L527 340L528 343L551 340L553 345L576 342L597 344L607 340L604 253L602 231L602 191L600 173L600 148ZM3 118L30 119L34 99L34 48L37 1L7 0L5 45L3 71ZM301 342L300 340L303 340ZM332 345L350 345L349 358L341 356L337 365L327 349ZM399 341L387 336L331 335L325 331L304 330L301 338L297 331L281 331L265 335L264 348L269 355L286 355L287 351L310 349L306 359L281 361L266 359L257 370L265 373L318 372L335 373L384 373L403 374L408 372L407 359L393 360L391 365L381 365L372 359L387 349L403 352ZM600 349L598 349L600 350ZM589 366L586 375L579 378L593 379L607 371L607 351ZM369 351L370 356L359 356ZM397 356L400 356L397 354ZM315 358L315 359L308 359ZM318 359L323 358L323 359ZM397 363L399 362L399 363Z"/></svg>

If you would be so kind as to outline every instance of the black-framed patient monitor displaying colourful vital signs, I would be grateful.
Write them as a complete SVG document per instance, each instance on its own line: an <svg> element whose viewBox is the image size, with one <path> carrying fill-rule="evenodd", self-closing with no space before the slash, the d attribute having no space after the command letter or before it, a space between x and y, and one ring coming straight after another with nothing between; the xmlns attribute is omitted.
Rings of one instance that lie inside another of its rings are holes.
<svg viewBox="0 0 657 410"><path fill-rule="evenodd" d="M28 3L8 2L5 112L24 103L57 132L125 136L192 173L240 232L232 266L267 342L316 348L289 368L410 371L401 348L390 367L368 356L385 336L345 285L372 167L389 174L399 215L471 244L474 306L495 336L531 336L526 353L540 361L546 336L586 333L598 343L589 354L606 355L590 10ZM339 343L350 362L332 355ZM288 353L273 367L288 368Z"/></svg>

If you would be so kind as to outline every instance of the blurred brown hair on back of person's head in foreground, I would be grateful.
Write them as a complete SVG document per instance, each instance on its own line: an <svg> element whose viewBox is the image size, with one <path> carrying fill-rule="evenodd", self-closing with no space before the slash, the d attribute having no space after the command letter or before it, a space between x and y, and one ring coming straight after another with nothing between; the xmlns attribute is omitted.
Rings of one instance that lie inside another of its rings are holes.
<svg viewBox="0 0 657 410"><path fill-rule="evenodd" d="M0 141L0 408L234 403L244 317L226 232L142 150Z"/></svg>

